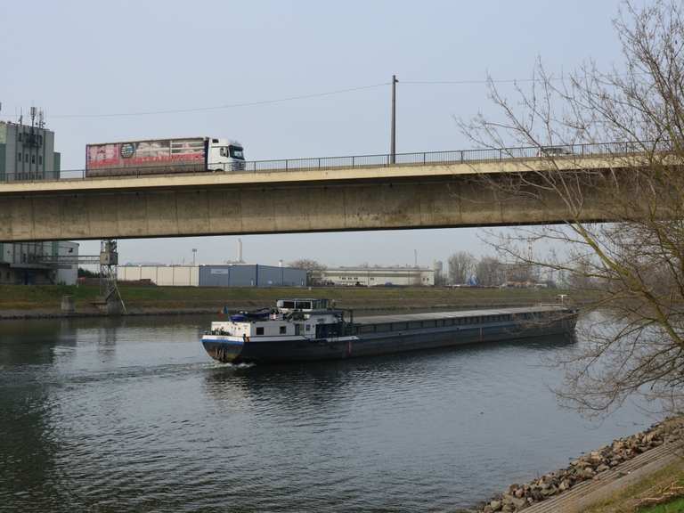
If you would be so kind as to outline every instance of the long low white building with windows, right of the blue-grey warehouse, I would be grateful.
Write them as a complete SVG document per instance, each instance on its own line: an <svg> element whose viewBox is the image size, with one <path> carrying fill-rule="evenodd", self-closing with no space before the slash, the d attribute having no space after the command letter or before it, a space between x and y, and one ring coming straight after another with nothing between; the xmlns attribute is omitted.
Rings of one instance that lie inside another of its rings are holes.
<svg viewBox="0 0 684 513"><path fill-rule="evenodd" d="M322 285L424 286L435 285L435 270L428 267L336 267L317 272Z"/></svg>

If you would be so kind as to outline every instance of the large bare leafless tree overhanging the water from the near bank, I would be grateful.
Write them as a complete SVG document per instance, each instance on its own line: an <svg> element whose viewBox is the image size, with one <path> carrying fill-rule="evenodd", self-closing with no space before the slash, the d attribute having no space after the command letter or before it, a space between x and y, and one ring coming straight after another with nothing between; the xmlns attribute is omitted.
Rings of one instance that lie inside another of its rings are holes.
<svg viewBox="0 0 684 513"><path fill-rule="evenodd" d="M491 240L507 259L570 276L574 296L601 312L588 317L599 321L581 350L563 361L561 397L607 412L641 393L676 410L684 396L682 7L626 1L614 23L621 67L588 63L558 79L538 63L513 101L491 82L500 119L478 116L460 127L484 147L537 148L526 158L508 151L523 170L483 180L501 198L566 210L564 224ZM538 241L555 254L531 256Z"/></svg>

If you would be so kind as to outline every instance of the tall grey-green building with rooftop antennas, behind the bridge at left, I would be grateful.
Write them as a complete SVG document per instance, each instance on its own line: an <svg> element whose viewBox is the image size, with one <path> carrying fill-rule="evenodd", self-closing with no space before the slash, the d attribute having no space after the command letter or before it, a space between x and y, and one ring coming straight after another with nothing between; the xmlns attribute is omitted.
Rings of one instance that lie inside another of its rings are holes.
<svg viewBox="0 0 684 513"><path fill-rule="evenodd" d="M0 182L60 177L54 133L45 129L42 113L31 109L30 118L31 125L0 121ZM0 243L0 283L72 285L77 256L73 242Z"/></svg>

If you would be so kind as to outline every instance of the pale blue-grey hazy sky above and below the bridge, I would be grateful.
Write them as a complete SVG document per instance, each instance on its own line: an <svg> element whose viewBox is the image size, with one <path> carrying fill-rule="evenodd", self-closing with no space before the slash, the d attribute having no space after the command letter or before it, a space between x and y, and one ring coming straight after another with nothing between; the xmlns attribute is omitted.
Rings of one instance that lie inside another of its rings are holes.
<svg viewBox="0 0 684 513"><path fill-rule="evenodd" d="M482 81L621 61L619 0L62 0L2 2L0 119L45 110L62 169L85 144L214 136L246 158L387 153L396 75L397 152L468 149L455 118L499 116ZM411 84L432 82L433 84ZM460 84L435 84L460 82ZM464 83L465 82L465 83ZM333 93L348 89L356 91ZM504 94L512 86L500 85ZM317 95L281 101L292 97ZM251 105L244 105L251 103ZM255 104L256 103L256 104ZM242 106L236 106L242 104ZM208 109L205 109L208 108ZM141 112L193 110L166 114ZM237 237L120 240L122 262L217 264ZM250 263L419 265L490 253L479 229L241 236ZM81 254L96 253L84 241Z"/></svg>

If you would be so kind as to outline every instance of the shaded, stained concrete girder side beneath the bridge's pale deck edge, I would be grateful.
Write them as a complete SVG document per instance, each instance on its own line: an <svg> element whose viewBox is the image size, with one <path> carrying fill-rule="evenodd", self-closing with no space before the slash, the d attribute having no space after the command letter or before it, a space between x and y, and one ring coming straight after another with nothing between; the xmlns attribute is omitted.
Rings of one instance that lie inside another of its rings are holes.
<svg viewBox="0 0 684 513"><path fill-rule="evenodd" d="M0 195L0 241L554 224L567 217L556 198L502 199L464 175L39 191Z"/></svg>

